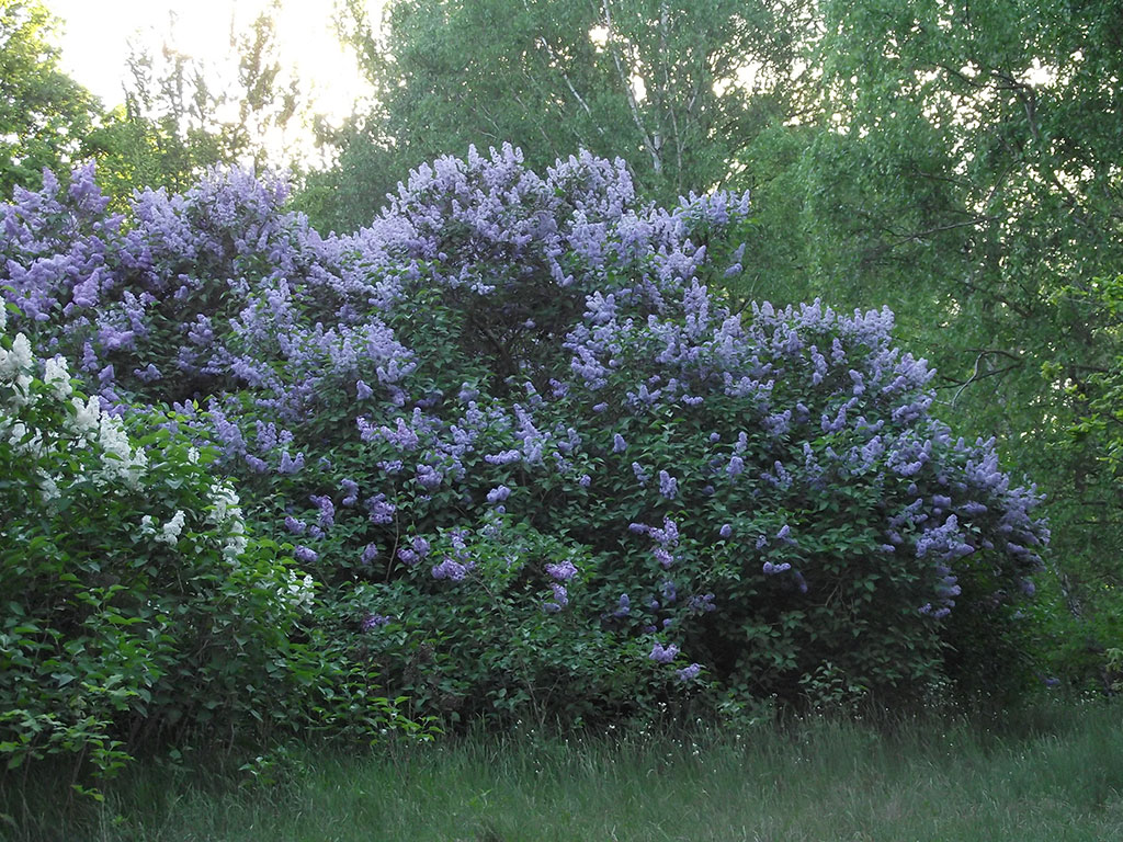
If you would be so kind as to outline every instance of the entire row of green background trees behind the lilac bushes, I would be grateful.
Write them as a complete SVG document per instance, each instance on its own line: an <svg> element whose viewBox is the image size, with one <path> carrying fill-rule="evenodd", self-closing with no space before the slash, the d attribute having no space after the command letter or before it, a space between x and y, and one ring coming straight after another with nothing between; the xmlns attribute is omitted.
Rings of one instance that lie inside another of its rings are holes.
<svg viewBox="0 0 1123 842"><path fill-rule="evenodd" d="M295 167L318 228L364 225L411 167L469 144L510 141L538 170L578 148L620 156L657 201L751 190L729 294L895 311L958 431L996 436L1048 496L1043 649L1096 680L1123 640L1123 3L391 0L381 26L359 0L336 12L374 104L321 130L331 166ZM265 15L235 34L223 91L174 51L136 56L126 108L104 113L58 71L42 7L4 2L6 193L88 157L116 195L265 164L262 128L305 107L271 31Z"/></svg>

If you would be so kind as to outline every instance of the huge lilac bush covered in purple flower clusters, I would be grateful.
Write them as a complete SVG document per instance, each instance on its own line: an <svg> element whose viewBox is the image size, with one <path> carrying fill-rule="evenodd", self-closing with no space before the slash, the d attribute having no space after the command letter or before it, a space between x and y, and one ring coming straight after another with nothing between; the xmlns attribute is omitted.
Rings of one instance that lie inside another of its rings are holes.
<svg viewBox="0 0 1123 842"><path fill-rule="evenodd" d="M321 237L212 172L117 218L77 171L0 209L2 283L107 412L209 430L321 626L436 710L795 699L828 662L907 697L1006 658L1032 487L932 414L888 311L731 310L747 196L505 147L387 200Z"/></svg>

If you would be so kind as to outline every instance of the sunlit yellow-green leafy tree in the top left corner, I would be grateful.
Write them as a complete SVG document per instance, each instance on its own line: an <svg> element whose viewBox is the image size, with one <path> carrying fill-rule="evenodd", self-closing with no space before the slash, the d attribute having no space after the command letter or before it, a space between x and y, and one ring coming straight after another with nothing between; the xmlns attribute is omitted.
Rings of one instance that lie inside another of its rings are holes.
<svg viewBox="0 0 1123 842"><path fill-rule="evenodd" d="M58 68L57 26L39 0L0 0L0 195L90 152L98 100Z"/></svg>

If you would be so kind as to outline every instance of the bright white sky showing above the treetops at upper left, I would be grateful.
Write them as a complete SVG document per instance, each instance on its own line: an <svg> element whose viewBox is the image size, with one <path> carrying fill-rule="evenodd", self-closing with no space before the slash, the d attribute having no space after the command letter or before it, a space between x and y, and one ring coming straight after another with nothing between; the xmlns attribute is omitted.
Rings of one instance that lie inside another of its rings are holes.
<svg viewBox="0 0 1123 842"><path fill-rule="evenodd" d="M266 0L45 0L64 21L60 46L64 72L101 98L107 107L124 102L129 42L158 54L170 40L175 48L209 65L229 52L231 16L248 30ZM367 88L354 55L338 43L331 22L332 0L282 0L277 42L282 63L291 64L313 110L338 122ZM380 0L368 0L377 19ZM170 13L175 16L174 28Z"/></svg>

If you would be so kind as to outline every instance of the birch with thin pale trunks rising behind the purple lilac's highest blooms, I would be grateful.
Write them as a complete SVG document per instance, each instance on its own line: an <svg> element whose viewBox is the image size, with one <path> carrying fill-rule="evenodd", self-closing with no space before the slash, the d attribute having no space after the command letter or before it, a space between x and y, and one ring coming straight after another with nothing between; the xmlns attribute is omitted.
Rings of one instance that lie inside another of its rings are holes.
<svg viewBox="0 0 1123 842"><path fill-rule="evenodd" d="M382 35L345 3L380 110L345 140L337 183L363 179L373 216L404 172L511 143L549 166L577 149L630 163L659 201L725 182L737 153L798 108L786 85L802 0L395 0ZM346 175L343 175L346 173ZM334 223L343 220L331 220Z"/></svg>

